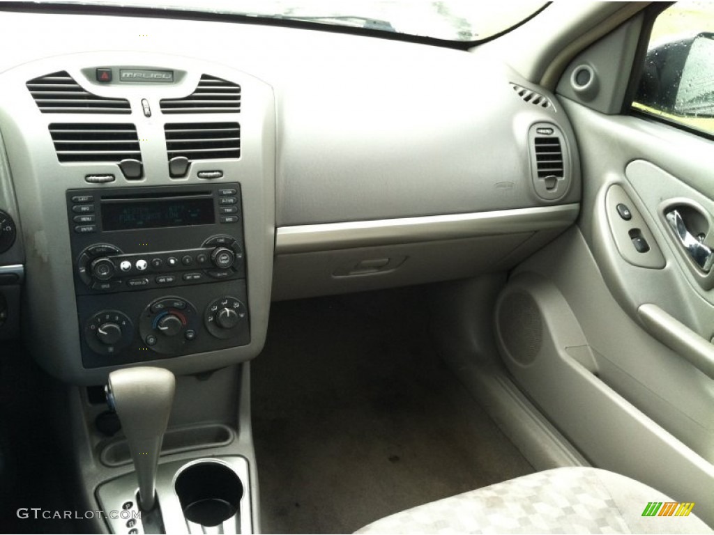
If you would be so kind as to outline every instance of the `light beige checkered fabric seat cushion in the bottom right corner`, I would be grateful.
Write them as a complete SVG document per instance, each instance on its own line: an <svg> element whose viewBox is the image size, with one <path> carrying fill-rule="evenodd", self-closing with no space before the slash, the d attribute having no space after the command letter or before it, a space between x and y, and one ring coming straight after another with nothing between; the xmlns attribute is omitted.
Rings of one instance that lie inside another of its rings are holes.
<svg viewBox="0 0 714 535"><path fill-rule="evenodd" d="M642 516L660 491L605 470L536 472L387 516L357 534L713 533L689 516ZM702 504L711 506L711 504Z"/></svg>

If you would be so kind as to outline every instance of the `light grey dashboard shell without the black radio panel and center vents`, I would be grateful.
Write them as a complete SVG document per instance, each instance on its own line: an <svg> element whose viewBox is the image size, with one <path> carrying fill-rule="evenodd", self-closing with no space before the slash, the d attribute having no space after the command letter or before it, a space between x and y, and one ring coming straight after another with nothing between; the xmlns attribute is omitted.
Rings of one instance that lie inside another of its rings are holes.
<svg viewBox="0 0 714 535"><path fill-rule="evenodd" d="M478 54L258 24L7 11L0 19L0 210L19 225L0 266L24 265L24 337L67 381L97 384L118 365L87 369L78 356L64 198L89 187L89 175L114 174L91 187L127 194L240 184L251 341L162 355L178 373L258 355L271 299L506 270L578 215L578 151L557 99ZM29 39L29 27L41 39ZM175 79L103 83L97 68ZM92 95L126 99L130 113L41 113L26 83L58 72ZM240 110L161 110L162 100L194 94L202 76L240 86ZM166 125L226 121L239 123L240 156L197 159L172 177ZM116 162L61 163L55 123L136 126L143 174L127 178ZM216 169L221 178L205 174ZM142 291L131 295L146 300Z"/></svg>

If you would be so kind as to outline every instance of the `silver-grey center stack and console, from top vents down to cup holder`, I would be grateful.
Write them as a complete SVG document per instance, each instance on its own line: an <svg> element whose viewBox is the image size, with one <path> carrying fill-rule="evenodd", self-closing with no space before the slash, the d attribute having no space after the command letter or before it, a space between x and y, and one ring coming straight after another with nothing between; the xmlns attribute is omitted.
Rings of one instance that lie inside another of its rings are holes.
<svg viewBox="0 0 714 535"><path fill-rule="evenodd" d="M24 282L25 345L60 379L48 410L72 452L77 501L137 512L144 456L155 459L159 507L89 531L156 532L159 509L168 533L258 531L249 361L271 302L273 89L225 65L139 52L42 58L0 78L0 101L13 103L0 106L0 155L11 155L9 168L0 157L0 198L17 199L0 250L13 238L24 251L21 276L0 275ZM104 385L151 367L174 374L176 395L148 447L131 428L151 427L156 389L132 390L134 416L119 429Z"/></svg>

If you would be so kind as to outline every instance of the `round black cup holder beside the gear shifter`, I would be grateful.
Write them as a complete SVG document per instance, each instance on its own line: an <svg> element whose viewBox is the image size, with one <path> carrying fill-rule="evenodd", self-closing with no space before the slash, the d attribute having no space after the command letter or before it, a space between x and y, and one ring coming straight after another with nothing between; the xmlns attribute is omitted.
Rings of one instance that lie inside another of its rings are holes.
<svg viewBox="0 0 714 535"><path fill-rule="evenodd" d="M220 462L201 461L186 467L176 477L175 489L183 516L195 524L218 526L240 511L241 478Z"/></svg>

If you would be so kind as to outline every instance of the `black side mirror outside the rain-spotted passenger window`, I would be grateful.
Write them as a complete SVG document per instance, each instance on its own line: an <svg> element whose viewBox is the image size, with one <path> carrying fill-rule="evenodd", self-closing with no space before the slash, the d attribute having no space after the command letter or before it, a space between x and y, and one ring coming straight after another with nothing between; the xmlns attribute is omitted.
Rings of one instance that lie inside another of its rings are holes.
<svg viewBox="0 0 714 535"><path fill-rule="evenodd" d="M681 117L714 117L714 34L702 33L650 49L637 101Z"/></svg>

